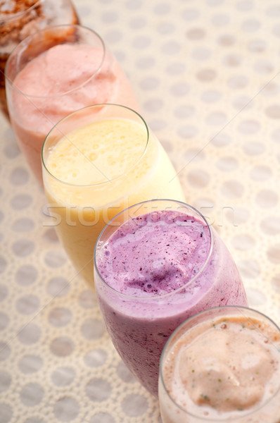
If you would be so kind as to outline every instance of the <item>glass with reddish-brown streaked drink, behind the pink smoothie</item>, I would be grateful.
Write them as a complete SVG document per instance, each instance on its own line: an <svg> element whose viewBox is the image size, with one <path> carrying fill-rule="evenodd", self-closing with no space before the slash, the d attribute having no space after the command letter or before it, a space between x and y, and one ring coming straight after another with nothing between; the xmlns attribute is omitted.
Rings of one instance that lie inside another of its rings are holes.
<svg viewBox="0 0 280 423"><path fill-rule="evenodd" d="M0 0L0 106L6 117L4 71L11 51L37 30L70 23L79 23L70 0Z"/></svg>

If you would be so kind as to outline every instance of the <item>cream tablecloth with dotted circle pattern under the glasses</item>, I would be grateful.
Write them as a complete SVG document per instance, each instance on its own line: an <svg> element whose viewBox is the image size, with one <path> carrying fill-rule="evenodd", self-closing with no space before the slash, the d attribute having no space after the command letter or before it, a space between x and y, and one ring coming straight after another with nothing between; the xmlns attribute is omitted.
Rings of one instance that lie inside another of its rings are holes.
<svg viewBox="0 0 280 423"><path fill-rule="evenodd" d="M76 0L129 76L187 201L280 324L277 0ZM1 118L0 423L158 423L76 276Z"/></svg>

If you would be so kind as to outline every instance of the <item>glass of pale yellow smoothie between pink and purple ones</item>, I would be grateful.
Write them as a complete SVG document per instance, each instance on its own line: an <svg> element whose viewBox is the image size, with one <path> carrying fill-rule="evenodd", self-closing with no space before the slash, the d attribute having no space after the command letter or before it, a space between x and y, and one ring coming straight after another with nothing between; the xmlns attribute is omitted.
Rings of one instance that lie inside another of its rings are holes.
<svg viewBox="0 0 280 423"><path fill-rule="evenodd" d="M77 272L94 286L101 230L123 209L155 198L184 201L176 171L144 119L100 104L63 118L42 148L43 180L58 237Z"/></svg>

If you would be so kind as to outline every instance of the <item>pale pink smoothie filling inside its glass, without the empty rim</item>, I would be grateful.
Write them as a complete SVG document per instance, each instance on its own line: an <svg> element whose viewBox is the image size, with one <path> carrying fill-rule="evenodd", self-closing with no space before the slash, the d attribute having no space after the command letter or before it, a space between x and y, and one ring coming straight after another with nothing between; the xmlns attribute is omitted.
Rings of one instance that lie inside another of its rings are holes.
<svg viewBox="0 0 280 423"><path fill-rule="evenodd" d="M115 58L87 44L58 44L39 54L7 85L7 94L18 144L39 181L44 138L63 117L92 104L139 109Z"/></svg>

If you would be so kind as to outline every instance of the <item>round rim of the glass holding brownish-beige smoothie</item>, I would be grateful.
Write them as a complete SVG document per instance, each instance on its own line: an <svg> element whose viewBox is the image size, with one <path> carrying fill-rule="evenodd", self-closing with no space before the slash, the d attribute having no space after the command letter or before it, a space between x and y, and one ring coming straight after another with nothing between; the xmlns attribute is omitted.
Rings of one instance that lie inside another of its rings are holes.
<svg viewBox="0 0 280 423"><path fill-rule="evenodd" d="M163 361L165 358L165 353L167 348L169 347L170 343L172 342L172 339L174 338L174 336L176 336L176 334L182 329L182 327L187 324L188 322L190 322L193 319L196 319L197 317L206 314L208 312L215 312L216 310L221 310L221 309L232 309L232 310L247 310L248 312L253 312L253 314L257 314L258 316L265 318L265 320L268 320L269 323L272 324L272 326L274 326L276 328L277 331L279 331L280 333L280 327L275 323L275 321L273 321L270 317L268 317L266 314L259 312L256 309L250 308L250 307L245 307L243 305L220 305L220 306L216 306L216 307L210 307L209 309L204 309L201 312L198 312L196 314L193 314L193 316L189 317L188 319L184 320L182 322L182 324L180 324L175 330L174 332L172 332L172 334L170 335L170 337L167 339L167 342L165 343L165 346L163 348L163 351L160 355L160 369L159 369L159 377L160 377L160 381L163 384L163 389L165 391L165 394L167 395L167 397L172 401L172 403L177 407L177 409L181 410L182 412L184 412L185 415L189 415L190 417L193 417L194 419L197 419L198 421L201 422L209 422L209 423L226 423L226 422L236 422L238 423L239 419L243 419L246 418L248 416L250 416L251 414L253 414L254 412L256 412L257 410L262 409L263 407L265 407L265 405L267 405L268 403L270 403L270 401L272 401L272 399L274 398L274 396L276 396L279 392L280 392L280 382L279 382L279 387L276 389L276 391L274 392L274 394L270 397L267 398L267 400L265 400L265 403L260 404L257 408L255 408L254 410L248 410L248 412L243 413L242 416L234 416L234 417L223 417L222 419L217 420L216 418L208 418L208 417L203 417L203 416L198 416L198 415L194 415L193 413L185 410L183 407L181 407L181 405L179 405L176 400L174 400L174 398L172 398L172 396L170 396L170 393L167 390L167 387L165 385L165 379L163 377ZM240 313L242 314L242 313ZM231 314L229 314L230 316ZM235 315L235 314L233 314ZM223 316L223 315L222 315ZM222 317L221 316L221 317ZM247 316L246 316L247 317ZM188 329L189 330L189 329ZM187 331L186 331L187 332ZM185 332L185 333L186 333Z"/></svg>

